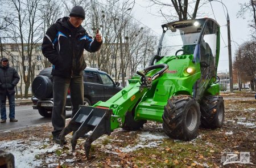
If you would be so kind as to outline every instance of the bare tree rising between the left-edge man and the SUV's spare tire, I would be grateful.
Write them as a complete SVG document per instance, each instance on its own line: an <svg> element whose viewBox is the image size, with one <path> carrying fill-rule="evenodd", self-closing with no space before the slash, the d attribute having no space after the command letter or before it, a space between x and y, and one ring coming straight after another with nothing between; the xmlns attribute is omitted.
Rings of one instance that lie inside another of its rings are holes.
<svg viewBox="0 0 256 168"><path fill-rule="evenodd" d="M13 35L13 41L18 48L19 55L22 58L22 76L25 84L24 97L28 98L28 89L31 84L33 49L35 44L42 38L39 35L40 22L38 12L40 0L11 0L7 7L11 13L5 20L10 23L10 35ZM22 93L22 85L20 87Z"/></svg>

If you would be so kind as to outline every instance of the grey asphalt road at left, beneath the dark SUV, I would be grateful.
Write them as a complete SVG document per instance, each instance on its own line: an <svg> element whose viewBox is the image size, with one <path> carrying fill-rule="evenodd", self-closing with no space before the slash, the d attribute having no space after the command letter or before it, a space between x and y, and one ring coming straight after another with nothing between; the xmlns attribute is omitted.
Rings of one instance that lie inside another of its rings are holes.
<svg viewBox="0 0 256 168"><path fill-rule="evenodd" d="M15 130L19 128L26 128L38 125L40 123L51 122L51 118L42 117L38 110L33 110L31 105L16 106L15 107L15 118L18 122L9 121L9 107L7 107L7 120L6 123L0 123L0 132ZM67 111L67 118L71 117L71 111Z"/></svg>

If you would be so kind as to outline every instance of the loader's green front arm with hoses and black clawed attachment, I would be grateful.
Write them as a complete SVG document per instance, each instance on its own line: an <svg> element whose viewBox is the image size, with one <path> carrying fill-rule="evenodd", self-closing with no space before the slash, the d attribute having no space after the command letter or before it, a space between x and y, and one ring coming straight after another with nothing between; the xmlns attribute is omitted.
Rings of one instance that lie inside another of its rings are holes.
<svg viewBox="0 0 256 168"><path fill-rule="evenodd" d="M144 93L157 83L158 78L168 68L167 64L162 63L147 67L142 72L137 71L137 74L141 77L136 76L131 79L128 87L122 89L107 102L100 101L92 107L80 106L79 111L71 119L68 126L60 133L61 145L64 143L65 135L73 131L71 139L73 151L75 151L77 139L86 137L84 148L86 156L89 157L92 142L104 134L110 135L115 128L122 127L125 113L133 109ZM146 74L154 75L146 76ZM91 133L88 133L89 131Z"/></svg>

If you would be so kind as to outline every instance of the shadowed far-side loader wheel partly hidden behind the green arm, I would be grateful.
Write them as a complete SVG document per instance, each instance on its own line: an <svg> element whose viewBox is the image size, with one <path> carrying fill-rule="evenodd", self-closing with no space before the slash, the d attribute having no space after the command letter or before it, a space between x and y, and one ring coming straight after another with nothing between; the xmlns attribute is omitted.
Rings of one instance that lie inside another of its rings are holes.
<svg viewBox="0 0 256 168"><path fill-rule="evenodd" d="M147 120L134 120L134 115L132 112L128 111L125 115L125 122L123 123L123 130L136 131L143 128L144 123Z"/></svg>

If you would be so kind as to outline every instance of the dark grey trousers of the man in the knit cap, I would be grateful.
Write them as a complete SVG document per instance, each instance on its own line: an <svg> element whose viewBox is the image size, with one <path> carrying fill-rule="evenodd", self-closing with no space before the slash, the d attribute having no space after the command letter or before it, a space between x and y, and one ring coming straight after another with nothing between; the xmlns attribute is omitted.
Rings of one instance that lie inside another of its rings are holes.
<svg viewBox="0 0 256 168"><path fill-rule="evenodd" d="M71 94L72 117L76 114L77 110L79 110L79 105L82 105L84 102L84 85L82 76L71 78L53 76L53 137L59 136L60 132L65 127L65 104L68 88Z"/></svg>

